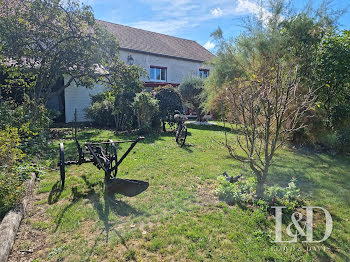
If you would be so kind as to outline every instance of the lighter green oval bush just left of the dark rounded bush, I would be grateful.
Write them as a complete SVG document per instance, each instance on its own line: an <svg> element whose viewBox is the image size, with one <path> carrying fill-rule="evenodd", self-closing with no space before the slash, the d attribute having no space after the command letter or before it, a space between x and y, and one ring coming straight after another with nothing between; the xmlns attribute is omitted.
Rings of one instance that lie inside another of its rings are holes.
<svg viewBox="0 0 350 262"><path fill-rule="evenodd" d="M151 129L159 113L158 100L148 92L141 92L135 96L133 107L138 127L145 131Z"/></svg>

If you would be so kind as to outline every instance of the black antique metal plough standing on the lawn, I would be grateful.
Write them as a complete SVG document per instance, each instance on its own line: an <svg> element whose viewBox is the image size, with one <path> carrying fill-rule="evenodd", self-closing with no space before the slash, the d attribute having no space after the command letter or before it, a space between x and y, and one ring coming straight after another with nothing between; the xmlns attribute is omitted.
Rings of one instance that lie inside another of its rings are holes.
<svg viewBox="0 0 350 262"><path fill-rule="evenodd" d="M98 169L105 172L106 192L120 193L126 196L135 196L148 188L148 182L131 179L117 178L118 166L123 162L126 156L131 152L135 145L143 140L144 137L138 137L135 140L113 141L100 143L84 143L84 148L80 145L76 137L75 129L75 143L78 149L78 160L65 161L64 160L64 145L60 144L60 160L58 166L61 175L61 188L65 184L65 167L69 165L81 165L84 163L93 163ZM118 159L117 145L121 143L131 143L126 152Z"/></svg>

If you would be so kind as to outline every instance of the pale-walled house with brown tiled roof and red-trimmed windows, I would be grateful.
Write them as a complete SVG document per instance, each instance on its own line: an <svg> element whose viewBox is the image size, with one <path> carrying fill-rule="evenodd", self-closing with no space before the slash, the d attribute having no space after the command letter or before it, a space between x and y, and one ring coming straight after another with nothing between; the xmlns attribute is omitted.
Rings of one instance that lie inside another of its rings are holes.
<svg viewBox="0 0 350 262"><path fill-rule="evenodd" d="M100 20L98 23L116 36L122 61L142 66L149 72L149 78L141 79L147 89L167 84L178 86L188 76L204 78L209 75L210 66L205 62L214 55L195 41ZM65 122L74 121L75 109L77 121L88 121L84 109L90 106L91 95L104 88L99 84L93 89L74 84L66 88Z"/></svg>

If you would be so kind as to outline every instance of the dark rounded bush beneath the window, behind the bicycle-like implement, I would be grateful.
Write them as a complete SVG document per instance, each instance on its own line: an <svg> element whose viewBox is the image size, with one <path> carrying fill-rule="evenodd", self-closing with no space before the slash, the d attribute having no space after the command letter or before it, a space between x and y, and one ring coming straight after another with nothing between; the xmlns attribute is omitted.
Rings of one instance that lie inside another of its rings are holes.
<svg viewBox="0 0 350 262"><path fill-rule="evenodd" d="M159 87L155 90L155 98L159 101L159 115L165 132L165 122L172 120L175 110L182 112L182 98L172 86Z"/></svg>

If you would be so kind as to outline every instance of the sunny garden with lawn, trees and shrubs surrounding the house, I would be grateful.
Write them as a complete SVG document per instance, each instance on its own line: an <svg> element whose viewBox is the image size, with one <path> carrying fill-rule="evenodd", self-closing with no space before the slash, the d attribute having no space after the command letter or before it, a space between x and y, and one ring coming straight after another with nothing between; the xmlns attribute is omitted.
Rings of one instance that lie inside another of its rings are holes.
<svg viewBox="0 0 350 262"><path fill-rule="evenodd" d="M147 72L120 59L118 39L91 7L0 6L0 220L36 177L8 261L350 260L344 10L271 3L268 19L248 17L244 34L212 33L208 78L149 91ZM48 109L72 83L106 87L91 97L89 122L62 123ZM185 121L185 106L195 122ZM140 136L129 151L118 143ZM106 156L96 143L107 141ZM136 180L147 186L132 197L108 190ZM325 239L322 210L332 220Z"/></svg>

